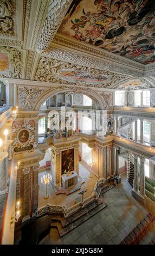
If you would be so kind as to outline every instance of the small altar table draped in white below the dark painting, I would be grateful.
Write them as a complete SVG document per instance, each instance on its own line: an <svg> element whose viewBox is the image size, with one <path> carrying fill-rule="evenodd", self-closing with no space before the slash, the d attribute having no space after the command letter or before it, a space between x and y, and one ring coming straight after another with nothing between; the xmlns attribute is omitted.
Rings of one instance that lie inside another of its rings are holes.
<svg viewBox="0 0 155 256"><path fill-rule="evenodd" d="M66 190L66 188L78 183L78 174L74 170L73 174L72 173L63 174L61 176L61 179L62 179L62 186L63 186L64 190Z"/></svg>

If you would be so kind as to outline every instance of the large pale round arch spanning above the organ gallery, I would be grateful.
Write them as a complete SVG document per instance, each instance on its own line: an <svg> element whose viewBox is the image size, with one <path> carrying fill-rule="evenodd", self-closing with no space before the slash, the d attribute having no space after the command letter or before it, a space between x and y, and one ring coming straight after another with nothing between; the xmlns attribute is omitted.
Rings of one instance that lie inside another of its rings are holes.
<svg viewBox="0 0 155 256"><path fill-rule="evenodd" d="M34 110L40 110L41 105L48 100L50 97L58 94L58 93L81 93L88 97L90 97L96 105L96 109L105 109L105 100L99 93L95 92L90 88L79 88L79 87L57 87L50 88L46 90L40 97L38 97L37 102L34 105Z"/></svg>

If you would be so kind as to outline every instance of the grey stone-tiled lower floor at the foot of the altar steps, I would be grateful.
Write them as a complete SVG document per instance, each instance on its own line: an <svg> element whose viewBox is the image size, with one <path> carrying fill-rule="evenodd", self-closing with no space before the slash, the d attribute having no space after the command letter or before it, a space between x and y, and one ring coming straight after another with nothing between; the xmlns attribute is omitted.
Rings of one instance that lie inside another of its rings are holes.
<svg viewBox="0 0 155 256"><path fill-rule="evenodd" d="M122 183L109 190L104 197L107 208L64 235L61 239L57 229L51 229L50 236L42 244L75 245L118 245L122 239L147 214L147 209L131 197L131 186L122 175ZM155 226L155 223L154 223ZM155 227L147 231L140 244L148 244L155 236Z"/></svg>

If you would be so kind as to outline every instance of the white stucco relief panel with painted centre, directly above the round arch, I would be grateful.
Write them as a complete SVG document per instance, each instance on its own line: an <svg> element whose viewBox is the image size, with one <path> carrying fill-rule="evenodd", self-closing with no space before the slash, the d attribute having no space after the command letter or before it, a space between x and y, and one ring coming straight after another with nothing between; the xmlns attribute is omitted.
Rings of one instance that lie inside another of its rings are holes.
<svg viewBox="0 0 155 256"><path fill-rule="evenodd" d="M90 66L61 62L48 57L41 57L35 74L35 80L37 81L109 88L127 77L106 70L93 69Z"/></svg>

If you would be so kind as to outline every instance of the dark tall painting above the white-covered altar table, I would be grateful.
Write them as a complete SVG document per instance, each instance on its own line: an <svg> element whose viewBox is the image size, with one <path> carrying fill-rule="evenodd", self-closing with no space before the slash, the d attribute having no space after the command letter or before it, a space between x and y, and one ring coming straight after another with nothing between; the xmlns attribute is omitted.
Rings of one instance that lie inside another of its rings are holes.
<svg viewBox="0 0 155 256"><path fill-rule="evenodd" d="M66 170L67 172L74 169L74 149L62 151L61 155L61 175Z"/></svg>

